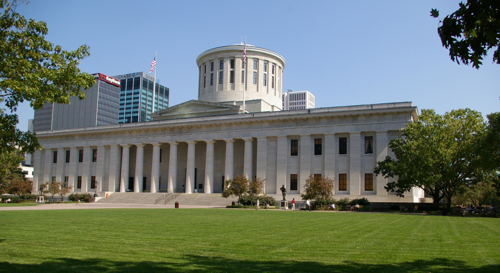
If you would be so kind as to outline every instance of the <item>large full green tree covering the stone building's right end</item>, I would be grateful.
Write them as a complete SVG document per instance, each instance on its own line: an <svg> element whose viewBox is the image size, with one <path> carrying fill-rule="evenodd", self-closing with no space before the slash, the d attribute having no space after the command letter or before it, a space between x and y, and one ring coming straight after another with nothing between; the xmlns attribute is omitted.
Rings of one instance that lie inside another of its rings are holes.
<svg viewBox="0 0 500 273"><path fill-rule="evenodd" d="M404 196L412 187L419 187L432 196L435 209L445 198L449 210L456 191L477 181L477 147L484 127L480 113L470 109L452 110L443 116L422 110L417 121L400 131L403 138L390 140L396 158L378 161L374 172L396 179L387 183L387 191Z"/></svg>

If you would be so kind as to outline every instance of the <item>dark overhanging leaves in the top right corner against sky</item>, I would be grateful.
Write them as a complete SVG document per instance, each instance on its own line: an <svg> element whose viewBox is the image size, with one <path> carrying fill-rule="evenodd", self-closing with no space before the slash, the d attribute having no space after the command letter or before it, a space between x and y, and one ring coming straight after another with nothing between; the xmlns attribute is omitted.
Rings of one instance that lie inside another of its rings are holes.
<svg viewBox="0 0 500 273"><path fill-rule="evenodd" d="M432 9L430 16L437 18L439 11ZM437 33L452 61L478 69L487 51L494 49L493 62L500 64L500 1L460 2L440 23Z"/></svg>

